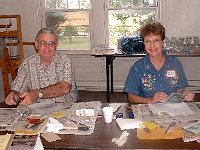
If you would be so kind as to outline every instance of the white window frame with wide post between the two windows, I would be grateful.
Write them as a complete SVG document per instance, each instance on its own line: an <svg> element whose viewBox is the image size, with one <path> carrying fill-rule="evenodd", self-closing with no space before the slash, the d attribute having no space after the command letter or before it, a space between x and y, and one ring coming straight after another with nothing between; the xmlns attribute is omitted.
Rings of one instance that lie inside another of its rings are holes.
<svg viewBox="0 0 200 150"><path fill-rule="evenodd" d="M46 9L44 8L44 24L46 26L46 13L48 12L72 12L89 11L89 31L90 49L88 50L62 50L69 54L90 54L92 49L99 45L109 45L109 0L91 0L91 9ZM159 0L158 6L133 7L134 9L156 9L155 20L159 20ZM43 3L45 5L45 3ZM111 9L112 10L112 9ZM59 50L59 49L58 49Z"/></svg>

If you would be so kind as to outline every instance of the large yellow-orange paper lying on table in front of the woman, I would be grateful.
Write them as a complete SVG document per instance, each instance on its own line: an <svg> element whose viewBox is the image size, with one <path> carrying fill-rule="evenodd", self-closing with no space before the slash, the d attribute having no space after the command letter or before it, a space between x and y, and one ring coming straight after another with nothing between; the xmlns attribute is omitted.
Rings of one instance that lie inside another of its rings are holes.
<svg viewBox="0 0 200 150"><path fill-rule="evenodd" d="M182 128L173 128L167 133L165 133L164 128L155 128L150 130L150 132L145 132L142 127L137 129L137 137L139 139L176 139L183 136Z"/></svg>

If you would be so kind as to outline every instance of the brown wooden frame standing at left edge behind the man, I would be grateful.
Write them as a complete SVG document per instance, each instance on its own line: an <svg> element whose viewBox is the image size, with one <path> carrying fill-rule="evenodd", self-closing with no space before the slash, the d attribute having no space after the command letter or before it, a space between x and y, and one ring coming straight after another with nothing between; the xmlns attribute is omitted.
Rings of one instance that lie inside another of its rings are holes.
<svg viewBox="0 0 200 150"><path fill-rule="evenodd" d="M11 75L12 80L15 79L16 70L24 59L20 15L0 15L0 39L0 67L2 71L4 94L6 97L10 92L9 75ZM13 39L15 40L13 41ZM12 57L10 55L11 49L15 50L17 56Z"/></svg>

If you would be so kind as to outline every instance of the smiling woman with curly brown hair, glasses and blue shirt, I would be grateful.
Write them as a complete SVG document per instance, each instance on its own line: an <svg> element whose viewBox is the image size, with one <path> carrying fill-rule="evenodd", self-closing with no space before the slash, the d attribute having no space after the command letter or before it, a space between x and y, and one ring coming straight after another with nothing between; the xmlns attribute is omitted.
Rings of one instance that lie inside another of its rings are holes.
<svg viewBox="0 0 200 150"><path fill-rule="evenodd" d="M147 23L140 28L147 55L133 64L124 91L129 102L165 102L171 93L184 93L192 101L194 93L185 90L188 85L178 58L163 51L165 28L159 22Z"/></svg>

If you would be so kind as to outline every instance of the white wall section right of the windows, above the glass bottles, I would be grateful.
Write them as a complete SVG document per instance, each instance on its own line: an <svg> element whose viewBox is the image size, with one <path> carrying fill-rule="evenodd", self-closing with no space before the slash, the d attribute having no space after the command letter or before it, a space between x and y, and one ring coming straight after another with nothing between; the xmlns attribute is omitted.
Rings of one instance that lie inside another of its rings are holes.
<svg viewBox="0 0 200 150"><path fill-rule="evenodd" d="M166 0L167 36L200 36L200 0Z"/></svg>

